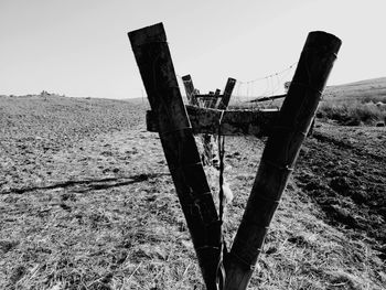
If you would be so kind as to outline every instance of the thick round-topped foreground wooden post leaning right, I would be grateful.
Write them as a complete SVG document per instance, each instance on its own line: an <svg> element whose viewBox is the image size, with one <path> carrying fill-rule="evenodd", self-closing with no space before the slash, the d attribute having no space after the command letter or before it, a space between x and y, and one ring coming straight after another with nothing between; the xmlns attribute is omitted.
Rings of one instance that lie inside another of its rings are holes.
<svg viewBox="0 0 386 290"><path fill-rule="evenodd" d="M341 40L332 34L317 31L308 35L276 128L265 147L242 224L225 261L225 290L247 288L340 46Z"/></svg>

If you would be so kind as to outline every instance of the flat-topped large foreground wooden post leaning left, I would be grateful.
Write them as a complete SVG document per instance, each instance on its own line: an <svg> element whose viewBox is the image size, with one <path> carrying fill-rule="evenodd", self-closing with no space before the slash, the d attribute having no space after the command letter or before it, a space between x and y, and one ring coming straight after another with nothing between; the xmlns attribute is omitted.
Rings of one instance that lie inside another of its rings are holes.
<svg viewBox="0 0 386 290"><path fill-rule="evenodd" d="M169 170L208 290L216 289L221 225L178 86L162 23L128 33Z"/></svg>

